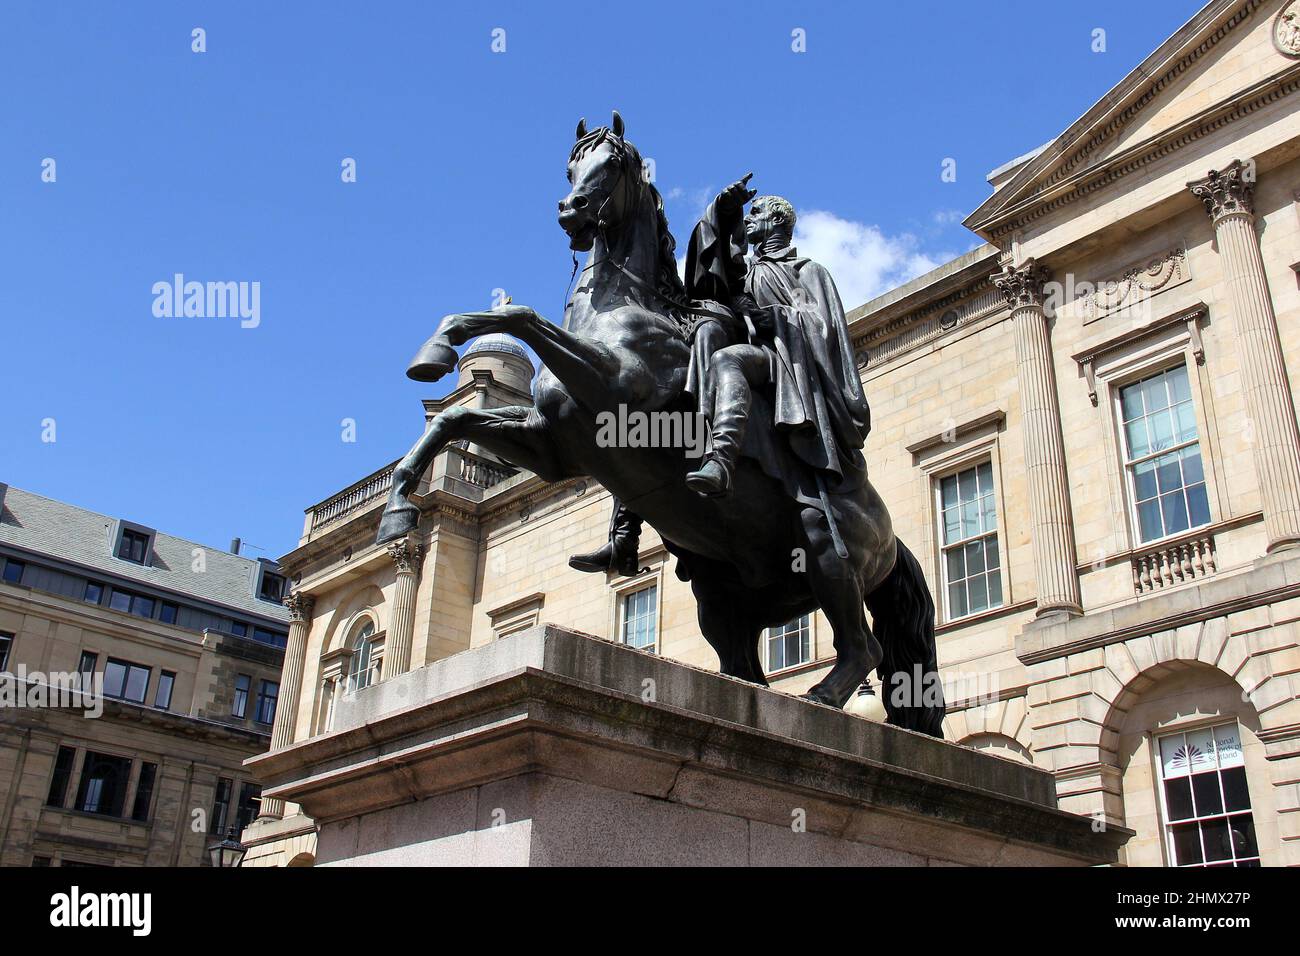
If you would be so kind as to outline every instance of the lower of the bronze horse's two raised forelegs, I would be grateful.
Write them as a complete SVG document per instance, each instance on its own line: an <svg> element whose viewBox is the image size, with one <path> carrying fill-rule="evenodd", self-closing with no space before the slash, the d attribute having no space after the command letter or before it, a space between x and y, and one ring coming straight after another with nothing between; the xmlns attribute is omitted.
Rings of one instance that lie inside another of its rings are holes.
<svg viewBox="0 0 1300 956"><path fill-rule="evenodd" d="M568 473L551 440L546 420L533 408L508 406L504 408L465 408L452 406L429 423L420 441L407 451L393 470L393 490L380 519L377 544L393 541L412 532L420 522L420 509L408 496L434 455L447 442L468 438L493 454L541 477L555 481Z"/></svg>

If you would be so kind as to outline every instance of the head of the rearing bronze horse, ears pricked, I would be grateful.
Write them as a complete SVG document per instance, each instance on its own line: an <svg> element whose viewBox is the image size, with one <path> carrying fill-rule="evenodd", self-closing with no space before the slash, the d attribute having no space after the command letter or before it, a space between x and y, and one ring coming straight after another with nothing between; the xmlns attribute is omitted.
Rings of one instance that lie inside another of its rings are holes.
<svg viewBox="0 0 1300 956"><path fill-rule="evenodd" d="M632 215L646 186L641 155L623 138L618 111L611 126L590 133L586 121L578 120L568 179L572 189L560 200L560 228L568 233L572 248L586 251L599 232L616 228Z"/></svg>

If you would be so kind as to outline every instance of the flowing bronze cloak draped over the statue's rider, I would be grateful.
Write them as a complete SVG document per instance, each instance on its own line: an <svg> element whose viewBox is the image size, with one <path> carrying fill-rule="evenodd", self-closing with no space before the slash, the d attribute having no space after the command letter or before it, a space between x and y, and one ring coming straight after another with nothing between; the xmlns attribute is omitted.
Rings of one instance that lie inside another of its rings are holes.
<svg viewBox="0 0 1300 956"><path fill-rule="evenodd" d="M816 476L844 494L866 481L862 446L871 411L853 359L849 323L831 274L793 247L745 258L740 216L705 212L686 250L686 293L731 302L748 293L772 319L771 392L755 389L742 453L783 481L801 502L820 507ZM697 336L697 339L699 337ZM744 341L744 333L737 341ZM688 392L708 392L706 355L692 351ZM775 432L767 423L775 425Z"/></svg>

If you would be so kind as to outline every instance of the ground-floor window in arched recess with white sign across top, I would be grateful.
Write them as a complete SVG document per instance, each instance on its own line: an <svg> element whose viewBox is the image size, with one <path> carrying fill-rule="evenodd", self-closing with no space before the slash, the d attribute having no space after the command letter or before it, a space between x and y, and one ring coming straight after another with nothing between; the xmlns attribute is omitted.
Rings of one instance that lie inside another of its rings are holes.
<svg viewBox="0 0 1300 956"><path fill-rule="evenodd" d="M1174 866L1258 866L1242 731L1236 722L1160 743L1165 842Z"/></svg>

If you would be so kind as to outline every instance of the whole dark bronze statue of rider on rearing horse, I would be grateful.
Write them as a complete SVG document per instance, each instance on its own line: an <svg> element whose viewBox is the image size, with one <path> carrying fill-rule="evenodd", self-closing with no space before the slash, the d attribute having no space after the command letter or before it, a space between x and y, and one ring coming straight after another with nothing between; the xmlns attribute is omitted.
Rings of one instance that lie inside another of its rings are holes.
<svg viewBox="0 0 1300 956"><path fill-rule="evenodd" d="M749 177L733 183L692 237L684 284L663 200L618 113L608 127L578 124L568 178L559 224L589 256L563 326L519 304L448 315L407 371L436 381L455 346L507 333L542 363L534 403L437 415L394 470L378 541L415 531L407 496L448 442L549 481L594 477L619 502L612 544L577 566L634 572L649 522L690 581L723 674L766 685L763 630L822 609L836 661L806 697L844 706L878 670L890 722L941 736L933 601L867 480L870 415L844 311L826 271L790 245L793 207L755 198ZM708 453L611 447L601 423L620 412L703 415Z"/></svg>

